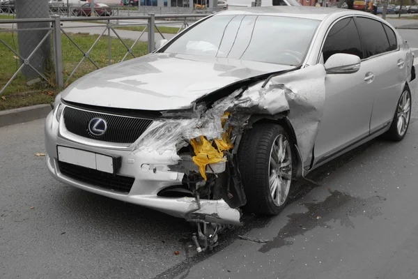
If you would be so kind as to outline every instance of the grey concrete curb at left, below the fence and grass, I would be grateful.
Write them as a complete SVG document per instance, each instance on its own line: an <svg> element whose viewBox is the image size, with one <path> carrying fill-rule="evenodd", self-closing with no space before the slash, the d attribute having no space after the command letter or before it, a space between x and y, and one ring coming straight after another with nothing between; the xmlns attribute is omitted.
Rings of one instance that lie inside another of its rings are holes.
<svg viewBox="0 0 418 279"><path fill-rule="evenodd" d="M0 127L45 118L51 112L51 105L33 105L13 110L0 111Z"/></svg>

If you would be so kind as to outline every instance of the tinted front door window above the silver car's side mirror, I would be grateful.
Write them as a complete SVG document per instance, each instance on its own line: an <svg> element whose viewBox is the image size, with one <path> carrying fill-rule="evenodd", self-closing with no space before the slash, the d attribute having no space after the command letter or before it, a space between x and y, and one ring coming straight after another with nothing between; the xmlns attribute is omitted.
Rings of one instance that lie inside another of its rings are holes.
<svg viewBox="0 0 418 279"><path fill-rule="evenodd" d="M362 44L353 17L336 22L325 38L324 63L336 53L353 54L363 59Z"/></svg>

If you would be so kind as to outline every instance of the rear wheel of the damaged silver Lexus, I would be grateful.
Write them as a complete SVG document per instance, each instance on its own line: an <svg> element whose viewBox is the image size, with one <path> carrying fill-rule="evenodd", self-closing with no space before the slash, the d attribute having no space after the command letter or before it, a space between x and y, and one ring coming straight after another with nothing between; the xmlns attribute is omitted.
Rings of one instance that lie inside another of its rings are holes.
<svg viewBox="0 0 418 279"><path fill-rule="evenodd" d="M401 110L401 107L403 107L403 110ZM395 142L403 140L410 124L411 108L411 91L409 87L406 86L405 89L403 89L401 98L399 98L396 105L396 111L394 114L394 119L392 119L392 124L385 134L385 137L388 140L393 140ZM401 125L400 128L398 125Z"/></svg>

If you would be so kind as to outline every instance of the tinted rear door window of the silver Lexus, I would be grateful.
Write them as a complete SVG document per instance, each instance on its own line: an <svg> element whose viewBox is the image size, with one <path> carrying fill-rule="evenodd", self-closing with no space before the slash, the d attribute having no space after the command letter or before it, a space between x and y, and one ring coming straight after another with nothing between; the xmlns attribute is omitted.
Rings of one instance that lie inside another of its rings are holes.
<svg viewBox="0 0 418 279"><path fill-rule="evenodd" d="M364 58L387 52L389 41L381 22L366 17L356 17L355 23L362 38Z"/></svg>

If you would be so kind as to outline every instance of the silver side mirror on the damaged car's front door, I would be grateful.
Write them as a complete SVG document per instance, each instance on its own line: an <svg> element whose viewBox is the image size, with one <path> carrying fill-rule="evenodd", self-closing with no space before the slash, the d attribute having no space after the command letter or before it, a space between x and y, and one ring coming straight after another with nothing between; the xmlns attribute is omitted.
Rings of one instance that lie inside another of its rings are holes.
<svg viewBox="0 0 418 279"><path fill-rule="evenodd" d="M352 74L359 70L361 62L357 55L337 53L333 54L324 66L328 74Z"/></svg>

